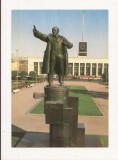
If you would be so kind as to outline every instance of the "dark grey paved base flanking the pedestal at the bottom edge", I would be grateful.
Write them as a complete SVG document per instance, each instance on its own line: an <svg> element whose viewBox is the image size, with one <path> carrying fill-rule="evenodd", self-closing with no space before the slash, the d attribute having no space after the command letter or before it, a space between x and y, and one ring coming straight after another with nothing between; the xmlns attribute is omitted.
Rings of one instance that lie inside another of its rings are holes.
<svg viewBox="0 0 118 160"><path fill-rule="evenodd" d="M49 147L49 133L27 132L16 147ZM108 147L108 139L104 142L99 135L85 135L84 147Z"/></svg>

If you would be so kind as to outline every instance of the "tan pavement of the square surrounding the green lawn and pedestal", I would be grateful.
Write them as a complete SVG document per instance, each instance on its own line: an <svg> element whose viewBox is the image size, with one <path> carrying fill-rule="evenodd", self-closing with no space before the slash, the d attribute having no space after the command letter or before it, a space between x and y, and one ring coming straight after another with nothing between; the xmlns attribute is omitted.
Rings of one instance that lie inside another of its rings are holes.
<svg viewBox="0 0 118 160"><path fill-rule="evenodd" d="M37 83L31 88L22 88L20 92L12 94L12 125L26 132L49 132L49 125L45 124L44 114L29 113L41 100L41 98L34 99L33 93L44 93L46 85L47 82ZM103 116L78 116L78 122L85 125L85 134L108 135L108 88L92 81L65 81L65 85L85 86L103 113Z"/></svg>

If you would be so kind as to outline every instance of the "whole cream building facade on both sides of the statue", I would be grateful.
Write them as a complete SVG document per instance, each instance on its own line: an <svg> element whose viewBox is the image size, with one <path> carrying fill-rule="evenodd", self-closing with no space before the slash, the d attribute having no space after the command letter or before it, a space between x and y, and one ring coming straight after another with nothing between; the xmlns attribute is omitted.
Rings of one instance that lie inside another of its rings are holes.
<svg viewBox="0 0 118 160"><path fill-rule="evenodd" d="M12 60L12 70L36 72L37 75L42 74L43 58L24 57L19 61ZM70 57L68 60L68 74L72 76L93 76L100 77L103 73L108 72L107 58L87 58L86 56Z"/></svg>

